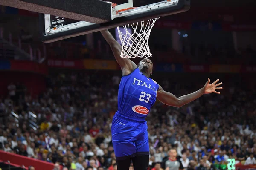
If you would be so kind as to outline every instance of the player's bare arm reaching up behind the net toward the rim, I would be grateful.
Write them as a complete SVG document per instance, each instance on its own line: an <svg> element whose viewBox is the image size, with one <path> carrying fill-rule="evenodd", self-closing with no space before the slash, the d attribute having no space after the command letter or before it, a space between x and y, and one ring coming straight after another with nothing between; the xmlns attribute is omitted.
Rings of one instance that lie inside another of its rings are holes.
<svg viewBox="0 0 256 170"><path fill-rule="evenodd" d="M128 75L130 74L134 69L137 68L137 65L131 61L129 58L121 58L121 50L122 47L121 45L114 39L113 35L106 29L101 31L103 37L105 40L108 42L117 63L121 66L123 75Z"/></svg>

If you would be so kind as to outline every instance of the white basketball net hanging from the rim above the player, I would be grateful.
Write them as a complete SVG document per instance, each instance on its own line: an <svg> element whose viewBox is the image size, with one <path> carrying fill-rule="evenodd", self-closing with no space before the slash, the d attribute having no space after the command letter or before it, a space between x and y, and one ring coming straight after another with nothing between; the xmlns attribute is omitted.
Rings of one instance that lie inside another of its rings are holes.
<svg viewBox="0 0 256 170"><path fill-rule="evenodd" d="M158 17L159 18L159 17ZM154 23L158 20L158 18L150 19L147 21L140 22L140 28L138 28L138 23L131 23L128 26L123 26L126 34L122 33L117 27L119 38L121 41L122 52L120 57L122 58L136 58L136 57L146 57L149 58L152 56L149 46L148 39L150 36L150 32ZM145 24L145 23L146 24ZM128 30L130 28L134 29L134 33L130 33ZM140 31L137 31L137 28Z"/></svg>

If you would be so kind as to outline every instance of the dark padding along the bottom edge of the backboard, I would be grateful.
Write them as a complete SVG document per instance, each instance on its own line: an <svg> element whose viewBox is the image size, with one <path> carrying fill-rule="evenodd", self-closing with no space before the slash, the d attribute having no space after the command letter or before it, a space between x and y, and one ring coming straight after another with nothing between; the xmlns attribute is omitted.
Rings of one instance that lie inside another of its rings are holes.
<svg viewBox="0 0 256 170"><path fill-rule="evenodd" d="M166 15L177 14L180 12L186 12L190 8L190 0L179 0L177 3L172 4L171 6L166 6L160 9L151 9L141 12L140 14L129 14L126 16L116 17L113 20L100 23L92 24L88 23L86 26L79 27L76 29L69 29L67 31L58 32L54 34L45 34L44 26L44 14L40 14L40 32L43 42L50 43L58 40L63 40L70 37L76 37L79 35L89 34L91 32L97 32L105 29L115 28L117 26L123 26L128 23L136 23L142 20L148 20L155 17L163 17Z"/></svg>

